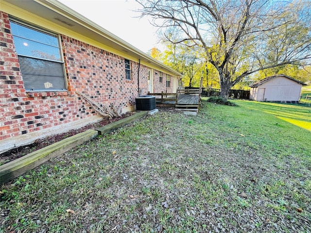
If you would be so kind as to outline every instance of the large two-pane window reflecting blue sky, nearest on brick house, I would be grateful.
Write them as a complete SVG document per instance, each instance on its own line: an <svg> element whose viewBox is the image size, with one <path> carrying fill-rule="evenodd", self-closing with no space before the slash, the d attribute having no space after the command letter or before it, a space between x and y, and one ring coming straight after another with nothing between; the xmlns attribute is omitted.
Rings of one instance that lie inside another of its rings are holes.
<svg viewBox="0 0 311 233"><path fill-rule="evenodd" d="M10 24L25 89L66 90L59 37L15 19Z"/></svg>

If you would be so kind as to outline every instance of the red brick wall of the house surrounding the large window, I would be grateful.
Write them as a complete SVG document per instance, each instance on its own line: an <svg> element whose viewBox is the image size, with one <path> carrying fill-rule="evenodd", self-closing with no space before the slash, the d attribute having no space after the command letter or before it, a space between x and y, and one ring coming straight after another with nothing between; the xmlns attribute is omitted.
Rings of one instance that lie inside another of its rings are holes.
<svg viewBox="0 0 311 233"><path fill-rule="evenodd" d="M138 62L131 61L132 80L125 80L124 58L65 35L61 39L68 91L26 93L6 13L0 12L0 22L0 140L96 116L76 91L104 104L126 109L135 105ZM148 92L147 71L140 65L143 95Z"/></svg>

